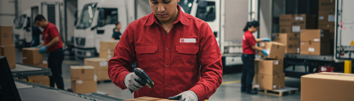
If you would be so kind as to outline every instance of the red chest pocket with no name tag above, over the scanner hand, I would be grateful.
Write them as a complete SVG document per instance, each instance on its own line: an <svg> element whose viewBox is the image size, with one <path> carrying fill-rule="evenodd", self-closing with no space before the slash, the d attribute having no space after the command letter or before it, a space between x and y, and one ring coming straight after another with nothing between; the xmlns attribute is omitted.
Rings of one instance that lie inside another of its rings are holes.
<svg viewBox="0 0 354 101"><path fill-rule="evenodd" d="M144 71L154 71L157 67L158 45L139 44L135 46L137 63Z"/></svg>

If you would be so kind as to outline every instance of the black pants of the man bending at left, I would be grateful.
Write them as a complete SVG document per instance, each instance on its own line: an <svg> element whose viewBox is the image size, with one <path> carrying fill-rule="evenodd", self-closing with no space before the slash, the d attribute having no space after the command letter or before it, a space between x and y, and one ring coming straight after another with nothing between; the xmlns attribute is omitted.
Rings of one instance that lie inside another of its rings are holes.
<svg viewBox="0 0 354 101"><path fill-rule="evenodd" d="M54 83L56 83L58 89L64 89L64 81L62 77L62 63L64 56L65 55L62 48L49 53L48 67L51 69L53 74L49 77L50 87L54 87Z"/></svg>

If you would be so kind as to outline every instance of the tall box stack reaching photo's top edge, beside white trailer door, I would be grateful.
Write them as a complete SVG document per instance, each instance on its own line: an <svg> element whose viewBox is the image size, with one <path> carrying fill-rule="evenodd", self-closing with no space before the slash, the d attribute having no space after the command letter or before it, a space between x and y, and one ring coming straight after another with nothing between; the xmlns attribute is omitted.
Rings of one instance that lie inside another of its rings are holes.
<svg viewBox="0 0 354 101"><path fill-rule="evenodd" d="M336 0L319 0L318 29L329 30L330 54L334 53Z"/></svg>

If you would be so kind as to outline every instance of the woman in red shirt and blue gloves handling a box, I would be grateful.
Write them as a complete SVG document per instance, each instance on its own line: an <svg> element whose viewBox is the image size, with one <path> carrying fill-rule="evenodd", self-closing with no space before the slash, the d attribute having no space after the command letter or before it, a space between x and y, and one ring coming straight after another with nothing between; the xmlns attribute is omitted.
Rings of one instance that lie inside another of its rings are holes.
<svg viewBox="0 0 354 101"><path fill-rule="evenodd" d="M247 22L242 36L242 77L241 77L241 92L247 92L248 94L257 94L257 91L252 90L253 77L255 76L255 55L256 50L262 51L264 55L268 55L265 49L256 46L256 42L270 41L269 38L257 38L253 37L252 33L258 31L259 22L251 21Z"/></svg>

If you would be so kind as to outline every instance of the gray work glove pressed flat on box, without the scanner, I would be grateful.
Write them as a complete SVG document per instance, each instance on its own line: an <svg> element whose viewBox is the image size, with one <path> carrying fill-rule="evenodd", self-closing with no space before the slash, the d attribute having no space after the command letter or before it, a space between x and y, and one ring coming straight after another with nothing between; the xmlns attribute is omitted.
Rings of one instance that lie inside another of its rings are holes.
<svg viewBox="0 0 354 101"><path fill-rule="evenodd" d="M179 101L198 101L197 94L192 90L184 91L176 96L169 97L169 100L179 100Z"/></svg>

